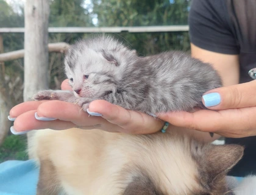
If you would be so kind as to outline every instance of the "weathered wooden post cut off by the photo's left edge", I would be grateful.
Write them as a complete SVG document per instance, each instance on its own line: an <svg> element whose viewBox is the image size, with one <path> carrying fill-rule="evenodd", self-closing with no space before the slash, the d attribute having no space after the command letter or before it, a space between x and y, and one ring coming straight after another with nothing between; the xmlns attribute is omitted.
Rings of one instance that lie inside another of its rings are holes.
<svg viewBox="0 0 256 195"><path fill-rule="evenodd" d="M0 34L0 54L4 52L4 43ZM10 130L11 122L7 119L12 101L10 101L9 88L5 83L4 62L0 62L0 145L4 142Z"/></svg>

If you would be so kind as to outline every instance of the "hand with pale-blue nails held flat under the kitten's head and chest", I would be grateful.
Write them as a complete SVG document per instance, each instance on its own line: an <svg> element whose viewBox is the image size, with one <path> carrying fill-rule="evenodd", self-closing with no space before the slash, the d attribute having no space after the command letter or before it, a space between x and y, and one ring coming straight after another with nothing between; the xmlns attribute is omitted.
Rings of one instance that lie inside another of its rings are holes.
<svg viewBox="0 0 256 195"><path fill-rule="evenodd" d="M71 90L68 80L62 83L62 90ZM91 102L89 114L78 105L62 101L30 101L16 105L10 110L14 119L12 132L20 135L35 129L64 130L71 127L80 129L102 129L108 132L154 133L163 127L163 121L144 113L126 110L107 101ZM35 113L40 116L35 118ZM102 116L92 116L99 115Z"/></svg>

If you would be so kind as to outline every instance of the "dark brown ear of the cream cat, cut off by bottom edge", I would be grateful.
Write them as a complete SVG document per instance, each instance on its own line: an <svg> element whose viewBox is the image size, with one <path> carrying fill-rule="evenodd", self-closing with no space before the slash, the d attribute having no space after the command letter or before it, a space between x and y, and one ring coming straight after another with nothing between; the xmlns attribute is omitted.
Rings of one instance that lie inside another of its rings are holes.
<svg viewBox="0 0 256 195"><path fill-rule="evenodd" d="M129 183L123 195L158 195L154 183L146 176L135 177Z"/></svg>

